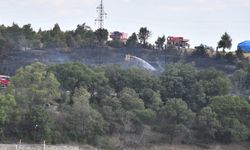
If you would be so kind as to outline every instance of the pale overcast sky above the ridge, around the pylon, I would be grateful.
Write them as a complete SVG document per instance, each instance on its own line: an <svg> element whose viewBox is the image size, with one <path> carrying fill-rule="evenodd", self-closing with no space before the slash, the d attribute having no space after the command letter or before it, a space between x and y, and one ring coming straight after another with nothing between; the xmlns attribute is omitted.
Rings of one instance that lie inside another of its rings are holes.
<svg viewBox="0 0 250 150"><path fill-rule="evenodd" d="M233 47L250 40L250 0L103 0L108 14L105 28L129 35L147 27L152 36L183 36L191 47L216 47L227 32ZM32 24L34 30L73 30L86 23L97 29L96 7L100 0L0 0L0 24Z"/></svg>

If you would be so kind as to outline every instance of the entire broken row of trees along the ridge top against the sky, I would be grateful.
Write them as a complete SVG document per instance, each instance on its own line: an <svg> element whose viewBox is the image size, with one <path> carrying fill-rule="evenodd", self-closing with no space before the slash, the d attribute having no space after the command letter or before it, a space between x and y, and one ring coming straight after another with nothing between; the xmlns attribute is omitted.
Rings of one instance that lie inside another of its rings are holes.
<svg viewBox="0 0 250 150"><path fill-rule="evenodd" d="M34 31L31 24L20 27L13 23L12 26L0 26L0 55L9 50L30 50L30 49L50 49L50 48L93 48L98 46L110 46L113 48L146 48L151 50L166 52L169 54L183 54L183 47L167 43L167 38L159 36L154 43L149 43L148 39L152 32L147 27L141 27L136 33L132 33L126 41L118 39L109 40L107 29L97 29L93 31L85 23L77 25L75 30L62 31L59 24L55 24L51 30ZM224 33L218 41L216 55L226 59L234 59L232 52L226 54L226 49L231 49L232 39L228 33ZM219 49L222 52L219 52ZM184 48L185 49L185 48ZM214 55L214 48L201 44L196 46L192 56L207 57ZM236 51L237 56L242 56L242 51Z"/></svg>

